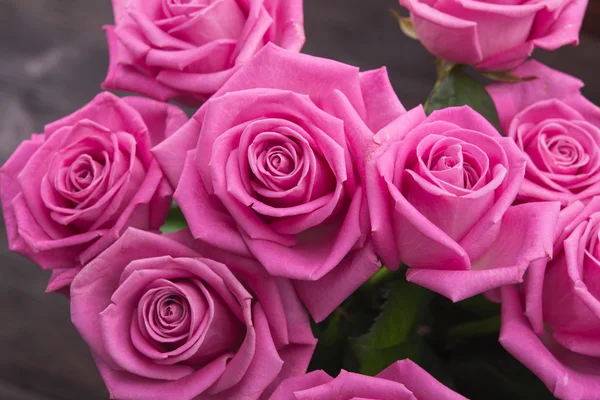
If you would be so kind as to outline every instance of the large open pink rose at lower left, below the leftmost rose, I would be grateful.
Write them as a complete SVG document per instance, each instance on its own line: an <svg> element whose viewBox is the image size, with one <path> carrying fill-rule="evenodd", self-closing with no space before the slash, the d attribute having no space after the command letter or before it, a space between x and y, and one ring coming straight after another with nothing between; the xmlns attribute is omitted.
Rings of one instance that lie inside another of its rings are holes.
<svg viewBox="0 0 600 400"><path fill-rule="evenodd" d="M71 318L120 400L264 398L316 344L289 281L187 231L129 229L75 278Z"/></svg>

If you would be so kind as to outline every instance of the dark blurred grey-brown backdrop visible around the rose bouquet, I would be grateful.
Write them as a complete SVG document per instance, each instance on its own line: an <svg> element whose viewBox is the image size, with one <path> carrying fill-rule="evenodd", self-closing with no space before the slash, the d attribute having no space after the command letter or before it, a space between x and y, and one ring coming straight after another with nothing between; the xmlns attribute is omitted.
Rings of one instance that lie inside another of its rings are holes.
<svg viewBox="0 0 600 400"><path fill-rule="evenodd" d="M31 133L100 91L108 64L101 27L112 22L110 3L0 0L0 164ZM433 86L433 57L403 36L389 7L399 8L396 0L305 0L304 52L362 69L387 66L409 108ZM536 57L583 79L585 95L600 104L599 44L582 34L578 48ZM0 231L0 400L107 399L70 323L68 301L44 293L49 274L11 254Z"/></svg>

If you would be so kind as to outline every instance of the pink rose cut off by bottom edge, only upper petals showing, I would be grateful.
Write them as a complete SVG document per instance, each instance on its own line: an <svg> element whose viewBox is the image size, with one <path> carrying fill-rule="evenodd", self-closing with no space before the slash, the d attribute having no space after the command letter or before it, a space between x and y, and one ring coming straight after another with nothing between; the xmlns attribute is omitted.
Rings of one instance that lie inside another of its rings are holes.
<svg viewBox="0 0 600 400"><path fill-rule="evenodd" d="M337 378L324 371L289 378L270 400L466 400L411 360L396 361L376 377L342 370Z"/></svg>

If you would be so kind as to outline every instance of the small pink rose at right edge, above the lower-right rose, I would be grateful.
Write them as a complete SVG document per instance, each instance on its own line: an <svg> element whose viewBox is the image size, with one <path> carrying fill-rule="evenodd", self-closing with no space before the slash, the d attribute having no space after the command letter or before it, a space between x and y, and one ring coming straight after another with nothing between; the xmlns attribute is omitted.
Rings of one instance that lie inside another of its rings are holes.
<svg viewBox="0 0 600 400"><path fill-rule="evenodd" d="M600 109L581 95L583 83L536 61L514 73L538 79L488 91L504 129L527 156L519 197L564 206L600 194Z"/></svg>

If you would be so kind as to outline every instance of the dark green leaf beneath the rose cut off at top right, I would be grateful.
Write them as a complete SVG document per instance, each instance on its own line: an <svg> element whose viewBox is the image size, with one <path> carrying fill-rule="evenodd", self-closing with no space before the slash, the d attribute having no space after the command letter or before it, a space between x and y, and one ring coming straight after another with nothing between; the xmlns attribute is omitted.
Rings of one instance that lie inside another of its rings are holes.
<svg viewBox="0 0 600 400"><path fill-rule="evenodd" d="M483 115L500 131L500 120L494 101L485 86L467 74L463 68L454 68L446 78L438 81L425 103L427 115L447 107L470 106Z"/></svg>

